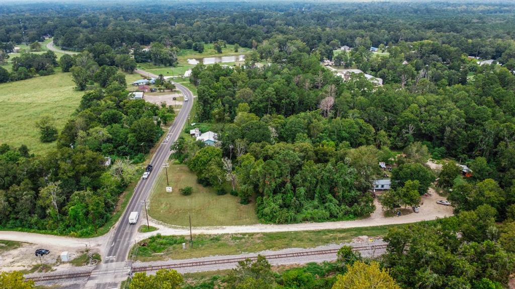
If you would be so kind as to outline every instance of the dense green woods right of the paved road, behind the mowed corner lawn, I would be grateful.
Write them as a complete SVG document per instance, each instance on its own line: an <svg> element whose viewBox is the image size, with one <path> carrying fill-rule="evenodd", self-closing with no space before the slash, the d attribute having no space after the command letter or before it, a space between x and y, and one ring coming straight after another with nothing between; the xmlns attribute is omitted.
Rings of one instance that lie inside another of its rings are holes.
<svg viewBox="0 0 515 289"><path fill-rule="evenodd" d="M398 161L395 170L404 204L420 202L435 179L424 167L430 153L461 161L483 157L501 188L512 186L515 76L506 68L473 63L473 81L452 86L427 74L377 87L360 75L343 81L319 64L316 53L301 50L263 68L193 69L192 79L200 80L198 118L215 123L219 143L202 148L181 140L176 156L200 182L220 190L231 180L243 203L256 197L258 215L267 222L353 218L374 209L367 191L379 175L377 162L393 161L389 148L418 141L427 157L413 162L420 165ZM464 64L461 57L456 61ZM396 203L399 195L390 205Z"/></svg>

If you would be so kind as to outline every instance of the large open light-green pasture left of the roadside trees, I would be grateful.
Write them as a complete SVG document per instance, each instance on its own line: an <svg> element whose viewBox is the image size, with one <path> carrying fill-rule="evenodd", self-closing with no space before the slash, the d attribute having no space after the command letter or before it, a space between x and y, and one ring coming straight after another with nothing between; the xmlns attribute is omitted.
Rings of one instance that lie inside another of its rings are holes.
<svg viewBox="0 0 515 289"><path fill-rule="evenodd" d="M56 73L0 84L0 143L26 145L43 154L55 143L42 143L35 122L52 115L58 130L77 109L83 92L75 91L70 73Z"/></svg>

